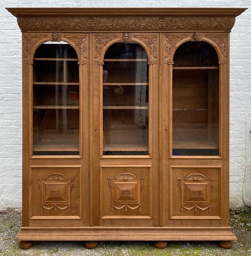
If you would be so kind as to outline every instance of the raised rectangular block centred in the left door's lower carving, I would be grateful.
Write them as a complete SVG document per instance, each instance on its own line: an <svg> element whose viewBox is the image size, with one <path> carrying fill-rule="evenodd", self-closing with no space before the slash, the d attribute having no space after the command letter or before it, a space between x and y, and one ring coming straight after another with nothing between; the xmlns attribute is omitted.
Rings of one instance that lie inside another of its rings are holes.
<svg viewBox="0 0 251 256"><path fill-rule="evenodd" d="M41 204L70 204L70 180L65 182L42 180Z"/></svg>

